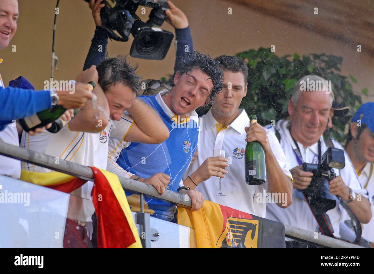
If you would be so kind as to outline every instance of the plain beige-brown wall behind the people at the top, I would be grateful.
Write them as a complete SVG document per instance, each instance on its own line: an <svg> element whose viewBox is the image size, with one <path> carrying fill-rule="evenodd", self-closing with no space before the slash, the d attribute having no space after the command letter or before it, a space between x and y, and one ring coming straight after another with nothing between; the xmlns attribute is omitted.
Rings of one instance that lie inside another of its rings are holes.
<svg viewBox="0 0 374 274"><path fill-rule="evenodd" d="M317 33L263 15L249 8L224 0L174 0L187 15L194 39L194 47L211 56L270 47L275 45L277 55L300 55L326 53L343 57L342 73L352 74L358 79L353 84L356 93L363 87L369 89L370 97L363 101L374 101L374 56L358 53L352 47L336 40L327 39ZM49 80L52 52L52 30L55 0L19 0L20 17L18 31L10 47L2 50L4 59L0 70L7 85L9 80L22 75L37 89ZM227 8L232 7L232 15ZM149 10L147 9L147 12ZM142 16L147 20L147 15ZM343 27L343 26L342 26ZM165 23L165 30L173 28ZM56 55L59 58L55 80L74 79L82 70L95 26L88 4L83 0L60 1L57 19ZM128 43L109 41L110 56L129 53L132 37ZM12 52L12 45L16 52ZM160 78L172 73L175 49L172 45L164 61L132 59L139 64L143 78Z"/></svg>

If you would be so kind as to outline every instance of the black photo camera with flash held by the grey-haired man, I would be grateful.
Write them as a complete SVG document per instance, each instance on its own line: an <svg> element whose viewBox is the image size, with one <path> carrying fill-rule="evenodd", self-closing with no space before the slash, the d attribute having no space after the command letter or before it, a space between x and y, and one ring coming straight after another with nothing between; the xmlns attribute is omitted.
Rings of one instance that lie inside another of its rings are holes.
<svg viewBox="0 0 374 274"><path fill-rule="evenodd" d="M344 151L332 147L322 155L321 163L303 163L303 170L313 173L313 176L309 187L299 191L307 198L315 213L322 214L336 206L336 199L330 194L329 182L336 177L333 168L343 169L344 166Z"/></svg>

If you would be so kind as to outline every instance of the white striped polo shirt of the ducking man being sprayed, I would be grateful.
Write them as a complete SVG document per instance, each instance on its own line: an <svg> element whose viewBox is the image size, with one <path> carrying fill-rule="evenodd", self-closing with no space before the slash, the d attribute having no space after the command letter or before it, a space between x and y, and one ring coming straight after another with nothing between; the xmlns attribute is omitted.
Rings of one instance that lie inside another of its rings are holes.
<svg viewBox="0 0 374 274"><path fill-rule="evenodd" d="M131 116L125 116L126 120L114 121L117 135L126 135L132 126ZM112 124L100 133L71 131L68 124L58 133L50 133L44 130L35 136L30 136L25 131L22 133L21 146L29 150L38 151L53 157L59 157L66 161L95 166L101 169L107 167L108 139L111 134ZM121 130L119 130L121 129ZM52 170L39 167L26 162L21 163L23 170L32 172L52 172ZM74 221L91 222L91 216L95 212L91 200L93 182L88 181L82 187L74 190L70 196L68 218Z"/></svg>

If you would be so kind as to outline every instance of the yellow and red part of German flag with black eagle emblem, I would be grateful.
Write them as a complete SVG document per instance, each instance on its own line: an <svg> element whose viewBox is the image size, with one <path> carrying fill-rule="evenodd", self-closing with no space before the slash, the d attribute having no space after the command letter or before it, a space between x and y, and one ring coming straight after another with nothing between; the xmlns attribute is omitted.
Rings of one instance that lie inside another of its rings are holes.
<svg viewBox="0 0 374 274"><path fill-rule="evenodd" d="M194 228L197 247L257 247L257 216L205 201L196 211L178 207L177 218L178 224ZM194 240L194 237L190 239ZM190 243L190 246L194 246L194 243Z"/></svg>

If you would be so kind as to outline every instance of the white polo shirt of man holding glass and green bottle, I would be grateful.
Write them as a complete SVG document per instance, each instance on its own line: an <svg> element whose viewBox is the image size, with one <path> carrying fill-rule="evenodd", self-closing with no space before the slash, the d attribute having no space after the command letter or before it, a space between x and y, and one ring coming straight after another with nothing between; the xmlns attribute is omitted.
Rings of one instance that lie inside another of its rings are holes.
<svg viewBox="0 0 374 274"><path fill-rule="evenodd" d="M258 203L257 194L267 193L268 182L263 185L248 185L245 182L244 154L247 144L245 127L249 127L249 118L245 110L239 111L239 116L226 129L220 128L220 124L213 117L211 110L201 117L198 156L188 167L183 178L186 179L188 175L196 171L206 158L213 157L213 150L225 150L225 156L230 166L226 167L228 173L221 180L221 190L227 196L214 196L218 193L218 177L216 176L201 182L195 189L203 194L205 200L265 218L266 200L264 198L264 202ZM288 170L287 159L276 136L267 130L267 137L279 166L287 176L292 178ZM289 183L291 184L291 182Z"/></svg>

